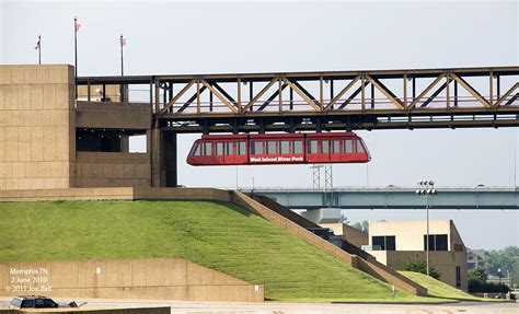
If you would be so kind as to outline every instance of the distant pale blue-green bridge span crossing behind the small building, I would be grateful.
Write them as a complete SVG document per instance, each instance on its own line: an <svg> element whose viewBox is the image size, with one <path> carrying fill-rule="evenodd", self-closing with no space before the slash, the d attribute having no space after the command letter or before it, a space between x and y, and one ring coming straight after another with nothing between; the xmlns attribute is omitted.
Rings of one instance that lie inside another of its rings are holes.
<svg viewBox="0 0 519 314"><path fill-rule="evenodd" d="M254 188L290 209L424 209L425 199L412 187ZM431 209L518 210L517 187L438 187Z"/></svg>

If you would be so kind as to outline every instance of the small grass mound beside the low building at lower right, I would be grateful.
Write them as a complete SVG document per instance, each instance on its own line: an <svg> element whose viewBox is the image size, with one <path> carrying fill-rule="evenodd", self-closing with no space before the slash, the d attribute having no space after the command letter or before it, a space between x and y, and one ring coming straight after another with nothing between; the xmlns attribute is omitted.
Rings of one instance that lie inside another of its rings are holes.
<svg viewBox="0 0 519 314"><path fill-rule="evenodd" d="M427 288L428 294L434 298L451 299L459 301L494 301L494 299L484 299L471 295L466 292L455 289L440 280L420 272L399 271L414 282ZM503 301L503 300L500 300Z"/></svg>

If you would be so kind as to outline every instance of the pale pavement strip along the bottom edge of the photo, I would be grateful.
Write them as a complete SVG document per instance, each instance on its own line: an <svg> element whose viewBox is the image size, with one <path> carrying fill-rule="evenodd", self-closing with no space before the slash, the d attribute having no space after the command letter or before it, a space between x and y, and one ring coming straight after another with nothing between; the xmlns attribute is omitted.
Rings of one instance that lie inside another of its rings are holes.
<svg viewBox="0 0 519 314"><path fill-rule="evenodd" d="M57 302L78 304L88 302L81 309L122 309L169 306L171 313L211 314L519 314L519 303L460 302L449 304L332 304L288 302L178 302L149 300L102 300L102 299L54 299ZM0 310L9 307L11 298L0 298Z"/></svg>

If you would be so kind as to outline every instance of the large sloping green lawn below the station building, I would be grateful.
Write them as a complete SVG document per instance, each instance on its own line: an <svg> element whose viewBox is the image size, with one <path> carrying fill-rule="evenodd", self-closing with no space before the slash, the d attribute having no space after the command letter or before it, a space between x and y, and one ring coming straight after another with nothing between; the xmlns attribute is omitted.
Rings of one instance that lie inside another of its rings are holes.
<svg viewBox="0 0 519 314"><path fill-rule="evenodd" d="M270 300L438 302L399 292L228 203L0 203L0 261L178 257L265 284Z"/></svg>

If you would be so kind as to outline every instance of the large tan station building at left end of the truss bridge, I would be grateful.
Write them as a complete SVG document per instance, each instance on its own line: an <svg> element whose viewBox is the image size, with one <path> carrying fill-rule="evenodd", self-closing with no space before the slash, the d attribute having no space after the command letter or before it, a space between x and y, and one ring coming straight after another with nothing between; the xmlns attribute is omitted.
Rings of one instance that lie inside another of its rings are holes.
<svg viewBox="0 0 519 314"><path fill-rule="evenodd" d="M79 86L76 101L71 66L0 66L0 190L175 186L176 136L153 128L149 103L114 103L119 91Z"/></svg>

